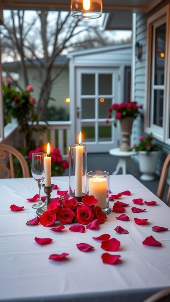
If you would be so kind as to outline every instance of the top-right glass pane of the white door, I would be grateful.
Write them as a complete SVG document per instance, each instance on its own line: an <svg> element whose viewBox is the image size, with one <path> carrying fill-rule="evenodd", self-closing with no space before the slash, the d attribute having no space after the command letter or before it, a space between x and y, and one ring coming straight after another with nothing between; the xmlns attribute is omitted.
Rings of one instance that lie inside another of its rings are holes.
<svg viewBox="0 0 170 302"><path fill-rule="evenodd" d="M99 95L112 94L112 74L99 74Z"/></svg>

